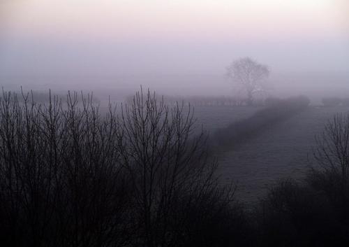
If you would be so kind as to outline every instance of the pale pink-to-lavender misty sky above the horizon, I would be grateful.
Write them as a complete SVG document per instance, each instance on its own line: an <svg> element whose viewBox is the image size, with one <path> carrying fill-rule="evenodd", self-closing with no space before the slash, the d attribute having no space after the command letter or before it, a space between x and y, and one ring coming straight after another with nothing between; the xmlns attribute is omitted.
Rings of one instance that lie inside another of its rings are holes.
<svg viewBox="0 0 349 247"><path fill-rule="evenodd" d="M346 0L1 0L0 76L349 71Z"/></svg>

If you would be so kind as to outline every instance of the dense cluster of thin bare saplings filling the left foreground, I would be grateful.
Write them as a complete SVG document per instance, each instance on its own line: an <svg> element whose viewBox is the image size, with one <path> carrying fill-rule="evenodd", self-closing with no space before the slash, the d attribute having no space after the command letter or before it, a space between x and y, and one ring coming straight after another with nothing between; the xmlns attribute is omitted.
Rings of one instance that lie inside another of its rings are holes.
<svg viewBox="0 0 349 247"><path fill-rule="evenodd" d="M0 99L1 246L124 245L128 190L115 112L102 118L77 94L66 104L22 98Z"/></svg>

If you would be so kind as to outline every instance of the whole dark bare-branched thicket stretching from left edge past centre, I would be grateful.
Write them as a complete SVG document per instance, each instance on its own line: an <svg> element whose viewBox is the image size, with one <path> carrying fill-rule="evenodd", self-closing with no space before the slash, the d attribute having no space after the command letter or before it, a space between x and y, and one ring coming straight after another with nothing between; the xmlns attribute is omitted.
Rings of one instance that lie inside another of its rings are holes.
<svg viewBox="0 0 349 247"><path fill-rule="evenodd" d="M246 246L191 111L149 92L103 115L67 99L0 99L1 246Z"/></svg>

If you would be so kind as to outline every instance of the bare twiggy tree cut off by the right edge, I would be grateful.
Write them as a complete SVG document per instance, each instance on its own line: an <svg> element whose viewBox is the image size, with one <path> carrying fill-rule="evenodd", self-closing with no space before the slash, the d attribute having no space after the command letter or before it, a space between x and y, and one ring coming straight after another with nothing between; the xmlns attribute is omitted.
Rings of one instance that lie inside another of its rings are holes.
<svg viewBox="0 0 349 247"><path fill-rule="evenodd" d="M339 113L325 125L317 138L315 161L309 183L327 196L341 223L349 225L349 115Z"/></svg>

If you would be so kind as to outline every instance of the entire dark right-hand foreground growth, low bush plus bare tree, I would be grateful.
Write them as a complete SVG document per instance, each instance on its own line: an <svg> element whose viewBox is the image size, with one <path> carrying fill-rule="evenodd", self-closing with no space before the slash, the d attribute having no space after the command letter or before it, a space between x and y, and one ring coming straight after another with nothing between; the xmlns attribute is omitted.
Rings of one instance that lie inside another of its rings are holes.
<svg viewBox="0 0 349 247"><path fill-rule="evenodd" d="M349 117L336 115L318 138L318 167L281 181L256 210L261 246L348 246Z"/></svg>

